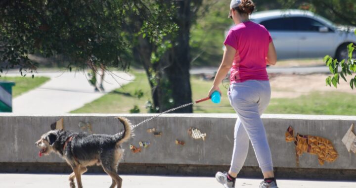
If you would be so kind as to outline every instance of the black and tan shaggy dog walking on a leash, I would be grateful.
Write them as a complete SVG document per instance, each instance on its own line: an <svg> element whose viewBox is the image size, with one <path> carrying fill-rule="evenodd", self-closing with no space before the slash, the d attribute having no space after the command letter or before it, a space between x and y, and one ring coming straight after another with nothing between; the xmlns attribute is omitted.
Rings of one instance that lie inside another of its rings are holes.
<svg viewBox="0 0 356 188"><path fill-rule="evenodd" d="M124 124L122 136L76 133L64 130L52 130L42 135L36 146L39 147L40 156L51 152L61 156L73 169L69 176L70 188L75 188L74 178L77 179L78 188L83 188L81 175L87 172L87 166L101 165L103 170L112 178L110 188L121 188L122 179L117 174L120 160L123 158L123 142L133 136L131 123L128 119L117 117Z"/></svg>

